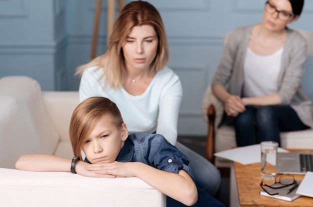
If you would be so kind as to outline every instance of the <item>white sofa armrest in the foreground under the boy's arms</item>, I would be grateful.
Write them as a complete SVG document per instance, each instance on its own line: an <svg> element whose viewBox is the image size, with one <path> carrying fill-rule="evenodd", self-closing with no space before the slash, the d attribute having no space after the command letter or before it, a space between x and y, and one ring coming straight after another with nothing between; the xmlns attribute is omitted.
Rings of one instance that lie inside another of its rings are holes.
<svg viewBox="0 0 313 207"><path fill-rule="evenodd" d="M0 168L0 206L166 206L166 196L137 177Z"/></svg>

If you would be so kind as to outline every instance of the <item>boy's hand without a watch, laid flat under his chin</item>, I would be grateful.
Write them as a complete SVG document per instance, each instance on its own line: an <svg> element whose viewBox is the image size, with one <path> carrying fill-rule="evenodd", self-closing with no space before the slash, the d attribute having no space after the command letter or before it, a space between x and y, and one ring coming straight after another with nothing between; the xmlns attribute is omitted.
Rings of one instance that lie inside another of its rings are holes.
<svg viewBox="0 0 313 207"><path fill-rule="evenodd" d="M136 162L96 163L86 165L85 168L90 173L95 173L100 177L133 177L133 169Z"/></svg>

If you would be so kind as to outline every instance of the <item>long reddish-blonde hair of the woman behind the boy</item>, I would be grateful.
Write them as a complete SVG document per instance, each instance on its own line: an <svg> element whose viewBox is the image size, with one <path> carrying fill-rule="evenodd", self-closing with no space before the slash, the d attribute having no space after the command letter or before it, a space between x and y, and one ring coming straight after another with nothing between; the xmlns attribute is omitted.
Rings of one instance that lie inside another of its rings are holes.
<svg viewBox="0 0 313 207"><path fill-rule="evenodd" d="M122 86L126 73L122 44L133 26L150 25L155 29L158 36L158 46L155 58L150 64L150 71L158 71L165 67L168 61L168 43L162 18L157 9L146 1L132 1L127 3L119 12L112 34L109 37L108 49L105 54L100 55L89 63L77 68L76 74L89 67L97 66L103 69L100 78L111 88Z"/></svg>

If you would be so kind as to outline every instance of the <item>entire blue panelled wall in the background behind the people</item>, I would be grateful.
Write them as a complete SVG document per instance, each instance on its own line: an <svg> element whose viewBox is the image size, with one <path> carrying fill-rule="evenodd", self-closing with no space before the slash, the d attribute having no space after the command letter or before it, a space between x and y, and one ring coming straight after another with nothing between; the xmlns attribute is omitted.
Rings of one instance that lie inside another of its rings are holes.
<svg viewBox="0 0 313 207"><path fill-rule="evenodd" d="M125 0L125 3L130 0ZM171 67L180 77L183 99L178 133L203 135L201 100L233 28L261 21L265 0L149 0L160 11ZM97 54L106 49L106 0L102 0ZM27 75L43 90L77 90L75 68L89 60L95 0L0 0L0 77ZM117 7L117 5L116 5ZM117 13L117 9L116 9ZM313 32L313 0L290 27ZM313 99L307 60L303 86Z"/></svg>

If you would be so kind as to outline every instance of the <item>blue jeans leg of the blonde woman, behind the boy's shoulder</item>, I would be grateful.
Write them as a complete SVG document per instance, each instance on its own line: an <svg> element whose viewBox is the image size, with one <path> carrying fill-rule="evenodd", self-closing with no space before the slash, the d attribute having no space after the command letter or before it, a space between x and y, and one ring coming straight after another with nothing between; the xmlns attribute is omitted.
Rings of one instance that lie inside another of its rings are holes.
<svg viewBox="0 0 313 207"><path fill-rule="evenodd" d="M175 146L188 157L189 167L193 172L196 186L214 196L220 185L219 170L203 156L178 141Z"/></svg>

